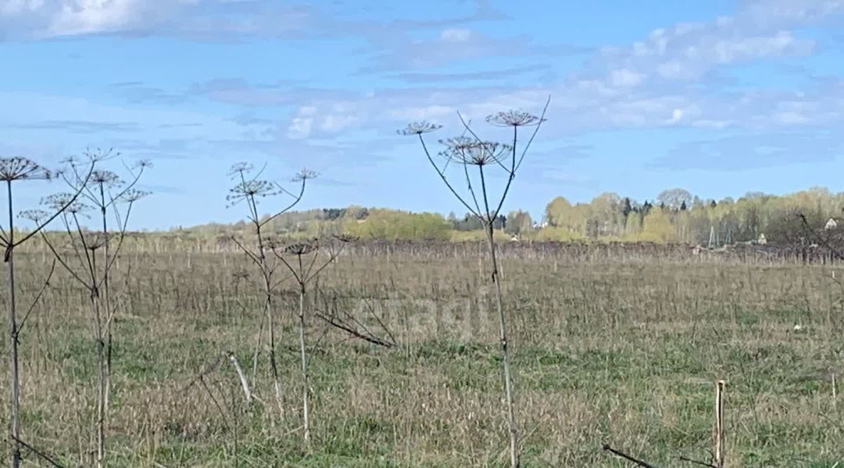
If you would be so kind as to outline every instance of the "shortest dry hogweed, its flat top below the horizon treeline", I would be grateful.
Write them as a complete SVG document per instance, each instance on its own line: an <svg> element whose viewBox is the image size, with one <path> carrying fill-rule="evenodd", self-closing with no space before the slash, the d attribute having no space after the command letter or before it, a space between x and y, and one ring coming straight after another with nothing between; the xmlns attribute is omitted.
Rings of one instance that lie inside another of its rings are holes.
<svg viewBox="0 0 844 468"><path fill-rule="evenodd" d="M306 299L308 284L340 255L352 238L334 236L322 243L315 239L273 248L273 254L287 267L299 287L299 352L302 373L302 433L306 441L311 438L311 419L308 409L310 379L308 377L308 355L306 347Z"/></svg>

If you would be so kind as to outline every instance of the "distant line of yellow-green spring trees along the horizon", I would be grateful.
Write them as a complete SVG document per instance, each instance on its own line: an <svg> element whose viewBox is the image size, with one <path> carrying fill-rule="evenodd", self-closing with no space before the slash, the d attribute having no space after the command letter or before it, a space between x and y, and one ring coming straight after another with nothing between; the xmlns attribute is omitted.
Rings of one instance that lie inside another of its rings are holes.
<svg viewBox="0 0 844 468"><path fill-rule="evenodd" d="M571 203L558 196L545 207L541 219L511 211L498 218L495 229L502 239L727 245L764 237L776 242L797 239L809 227L823 227L830 218L841 217L842 207L844 192L822 187L782 196L750 192L738 200L704 200L684 189L666 190L644 201L607 192L587 203ZM453 212L443 216L355 206L288 212L271 223L274 233L295 238L343 233L394 240L483 239L480 227L476 218ZM174 228L171 234L210 239L247 230L246 223L211 223Z"/></svg>

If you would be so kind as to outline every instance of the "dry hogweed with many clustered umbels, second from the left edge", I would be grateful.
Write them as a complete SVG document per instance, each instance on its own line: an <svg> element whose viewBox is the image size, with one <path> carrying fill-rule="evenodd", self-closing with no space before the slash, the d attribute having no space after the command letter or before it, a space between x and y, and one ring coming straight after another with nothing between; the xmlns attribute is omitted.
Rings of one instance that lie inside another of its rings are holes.
<svg viewBox="0 0 844 468"><path fill-rule="evenodd" d="M95 155L98 160L110 157L110 152ZM106 425L111 402L111 324L117 312L109 292L109 278L126 238L133 206L149 195L149 192L134 188L149 163L139 163L130 170L132 178L127 184L107 170L95 170L88 178L81 178L77 163L73 159L68 163L69 169L62 178L80 195L69 203L71 195L68 193L47 196L43 200L47 207L67 206L59 217L64 228L62 239L66 245L57 245L51 236L43 232L41 239L59 264L89 293L97 366L95 465L101 468L106 465ZM89 218L88 213L92 211L100 214L101 219L98 221L101 222L102 231L89 230L84 226L84 220ZM110 213L114 217L116 230L109 230L107 218ZM37 211L27 213L36 223L42 215ZM112 236L116 239L113 248L110 248Z"/></svg>

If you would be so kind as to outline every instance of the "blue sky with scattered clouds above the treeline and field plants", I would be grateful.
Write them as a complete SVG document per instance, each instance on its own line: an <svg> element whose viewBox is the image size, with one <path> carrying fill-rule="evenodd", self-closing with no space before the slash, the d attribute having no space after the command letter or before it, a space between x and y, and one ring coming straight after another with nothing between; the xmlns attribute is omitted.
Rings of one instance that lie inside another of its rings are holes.
<svg viewBox="0 0 844 468"><path fill-rule="evenodd" d="M244 160L317 170L301 207L463 212L396 130L550 95L506 209L841 191L842 26L844 0L0 0L0 154L151 159L136 228L240 218Z"/></svg>

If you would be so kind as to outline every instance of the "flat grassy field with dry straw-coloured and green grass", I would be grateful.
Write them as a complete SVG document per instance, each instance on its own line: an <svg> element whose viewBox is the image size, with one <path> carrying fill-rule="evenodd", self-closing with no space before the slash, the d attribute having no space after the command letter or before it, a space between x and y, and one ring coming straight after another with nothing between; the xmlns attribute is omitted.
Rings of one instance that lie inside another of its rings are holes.
<svg viewBox="0 0 844 468"><path fill-rule="evenodd" d="M309 317L307 445L292 285L277 298L277 401L265 353L252 376L261 296L244 256L126 253L113 281L109 465L505 465L500 352L482 250L361 251L323 272L313 304L348 311L398 346L372 345ZM25 312L50 257L17 261ZM728 466L840 467L844 401L836 408L831 380L844 377L844 291L834 271L691 255L504 256L523 465L630 466L603 444L661 467L688 465L679 455L708 460L713 382L724 379ZM25 440L73 466L89 466L95 446L85 294L57 272L21 340ZM228 362L197 380L225 351L262 402L246 404ZM38 463L27 454L24 465Z"/></svg>

